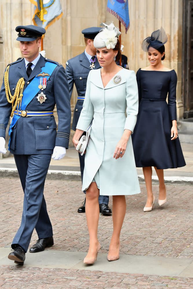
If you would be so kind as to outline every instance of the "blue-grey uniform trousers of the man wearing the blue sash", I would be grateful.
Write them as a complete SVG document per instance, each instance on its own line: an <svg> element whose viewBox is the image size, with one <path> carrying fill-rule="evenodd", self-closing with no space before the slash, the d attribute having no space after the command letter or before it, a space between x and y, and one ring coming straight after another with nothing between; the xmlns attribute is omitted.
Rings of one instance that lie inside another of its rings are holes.
<svg viewBox="0 0 193 289"><path fill-rule="evenodd" d="M27 252L34 228L39 239L53 236L43 195L51 156L51 154L14 155L24 200L21 225L11 245L13 249L19 245Z"/></svg>

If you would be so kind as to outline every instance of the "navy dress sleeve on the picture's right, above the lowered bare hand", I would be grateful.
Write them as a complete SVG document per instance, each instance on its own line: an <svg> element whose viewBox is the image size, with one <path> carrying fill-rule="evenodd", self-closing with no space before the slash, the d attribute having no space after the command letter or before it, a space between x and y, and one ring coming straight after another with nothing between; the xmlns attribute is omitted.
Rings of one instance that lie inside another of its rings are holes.
<svg viewBox="0 0 193 289"><path fill-rule="evenodd" d="M176 114L176 86L177 86L177 75L174 70L171 71L170 85L168 91L168 109L170 120L177 120Z"/></svg>

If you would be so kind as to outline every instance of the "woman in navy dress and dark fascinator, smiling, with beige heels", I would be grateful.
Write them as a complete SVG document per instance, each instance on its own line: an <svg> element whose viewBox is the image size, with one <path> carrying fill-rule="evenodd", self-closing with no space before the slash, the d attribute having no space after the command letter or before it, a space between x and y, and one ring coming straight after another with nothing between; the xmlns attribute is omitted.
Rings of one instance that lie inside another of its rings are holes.
<svg viewBox="0 0 193 289"><path fill-rule="evenodd" d="M144 212L151 211L155 201L152 166L159 179L159 205L167 201L163 169L185 166L176 121L177 75L161 63L165 58L164 44L167 40L166 32L161 27L142 42L150 65L137 71L139 113L132 141L136 166L143 168L146 182Z"/></svg>

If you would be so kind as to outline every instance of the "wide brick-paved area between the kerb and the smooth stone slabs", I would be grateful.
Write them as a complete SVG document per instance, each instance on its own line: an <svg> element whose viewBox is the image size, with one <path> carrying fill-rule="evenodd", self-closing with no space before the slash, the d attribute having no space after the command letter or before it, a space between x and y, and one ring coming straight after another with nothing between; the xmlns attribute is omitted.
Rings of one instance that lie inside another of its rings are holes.
<svg viewBox="0 0 193 289"><path fill-rule="evenodd" d="M17 178L0 178L0 247L10 247L20 225L23 191ZM84 200L80 181L52 181L45 184L45 199L53 225L55 244L52 249L87 251L88 232L85 214L77 208ZM153 185L158 197L158 185ZM141 194L127 196L127 212L121 234L121 253L132 255L193 257L192 186L167 185L168 202L152 212L143 212L146 203L145 185ZM110 197L109 206L112 206ZM112 217L100 216L101 253L108 251L112 234ZM36 241L34 232L32 243Z"/></svg>

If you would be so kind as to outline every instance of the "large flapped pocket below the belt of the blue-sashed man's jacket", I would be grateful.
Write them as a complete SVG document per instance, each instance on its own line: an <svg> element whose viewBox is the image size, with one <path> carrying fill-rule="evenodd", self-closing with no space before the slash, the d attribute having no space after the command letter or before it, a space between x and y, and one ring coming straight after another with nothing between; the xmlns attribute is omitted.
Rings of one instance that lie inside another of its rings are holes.
<svg viewBox="0 0 193 289"><path fill-rule="evenodd" d="M36 149L54 149L56 142L56 121L54 118L34 120Z"/></svg>

